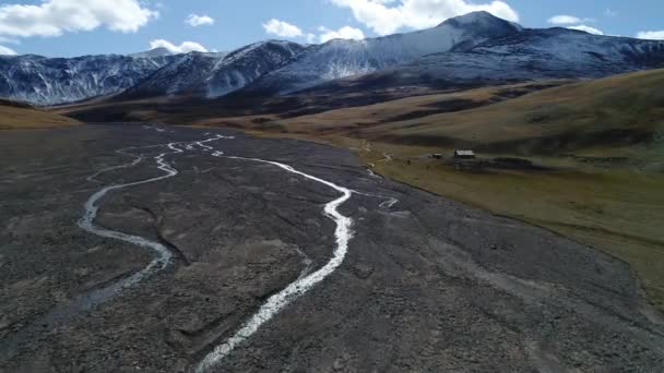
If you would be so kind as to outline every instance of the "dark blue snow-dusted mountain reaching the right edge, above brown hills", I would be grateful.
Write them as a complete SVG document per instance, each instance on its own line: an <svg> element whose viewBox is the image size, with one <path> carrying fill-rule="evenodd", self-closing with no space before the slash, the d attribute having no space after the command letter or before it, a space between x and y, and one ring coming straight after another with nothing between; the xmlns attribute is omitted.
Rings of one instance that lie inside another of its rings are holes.
<svg viewBox="0 0 664 373"><path fill-rule="evenodd" d="M655 68L664 68L664 41L567 28L525 29L467 50L428 55L381 73L358 76L355 84L375 84L377 80L392 85L498 84L592 79Z"/></svg>

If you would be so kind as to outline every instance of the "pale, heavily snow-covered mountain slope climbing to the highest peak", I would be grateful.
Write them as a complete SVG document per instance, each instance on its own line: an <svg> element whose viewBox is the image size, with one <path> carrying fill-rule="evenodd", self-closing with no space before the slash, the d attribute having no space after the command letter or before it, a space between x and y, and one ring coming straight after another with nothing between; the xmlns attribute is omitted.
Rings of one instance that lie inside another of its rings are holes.
<svg viewBox="0 0 664 373"><path fill-rule="evenodd" d="M407 63L430 53L472 48L521 31L518 24L487 12L474 12L414 33L364 40L331 40L308 48L287 65L262 77L251 89L295 92L327 81Z"/></svg>

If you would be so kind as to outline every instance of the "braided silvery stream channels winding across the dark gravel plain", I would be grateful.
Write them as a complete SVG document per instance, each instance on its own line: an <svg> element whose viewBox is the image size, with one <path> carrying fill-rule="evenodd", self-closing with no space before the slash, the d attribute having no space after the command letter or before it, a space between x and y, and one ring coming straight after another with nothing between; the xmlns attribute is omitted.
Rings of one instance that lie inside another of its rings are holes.
<svg viewBox="0 0 664 373"><path fill-rule="evenodd" d="M127 234L127 233L122 233L119 231L114 231L114 230L109 230L109 229L96 226L94 224L94 220L99 210L98 202L106 194L108 194L108 192L129 188L129 186L152 183L152 182L156 182L159 180L164 180L164 179L168 179L168 178L173 178L173 177L177 176L179 173L178 170L175 169L173 166L170 166L166 161L165 157L167 155L171 155L171 154L183 153L185 152L183 149L177 147L178 144L182 144L181 146L185 149L193 149L193 146L198 145L204 152L212 152L212 155L215 157L224 157L224 158L228 158L228 159L237 159L237 160L246 160L246 161L254 161L254 163L273 165L273 166L280 167L288 172L301 176L306 179L309 179L309 180L319 182L323 185L327 185L329 188L332 188L342 194L339 198L325 204L324 209L323 209L323 214L336 224L336 229L334 231L336 248L333 251L332 258L323 267L321 267L320 269L318 269L313 273L310 273L310 274L308 274L309 267L307 265L307 268L300 274L300 276L297 278L297 280L295 280L294 282L288 285L285 289L281 290L276 294L270 297L266 300L266 302L261 305L261 308L258 310L258 312L256 312L245 324L242 324L242 326L239 328L239 330L237 330L235 333L235 335L233 335L225 342L217 346L212 352L210 352L208 356L205 356L204 359L197 365L197 368L195 368L197 372L206 372L208 370L214 368L238 345L240 345L247 338L252 336L264 323L272 320L276 314L278 314L290 302L295 301L296 299L298 299L299 297L305 294L307 291L311 290L316 285L318 285L319 282L324 280L343 263L343 261L346 256L346 253L348 251L348 242L353 239L353 230L352 230L353 219L351 217L342 215L337 208L343 203L348 201L354 193L358 193L351 189L334 184L330 181L298 171L295 168L284 165L284 164L264 160L264 159L258 159L258 158L224 156L223 152L215 151L212 146L206 145L206 143L210 143L210 142L213 142L216 140L221 140L221 139L234 139L234 137L216 135L215 137L211 137L211 139L198 141L198 142L192 142L192 143L170 143L170 144L165 144L165 145L147 146L147 147L166 146L167 148L173 151L173 152L162 153L158 156L154 157L154 160L157 164L157 168L159 170L164 171L165 175L155 177L152 179L147 179L147 180L123 183L123 184L116 184L116 185L110 185L110 186L106 186L106 188L102 189L100 191L98 191L97 193L92 195L90 197L90 200L85 203L85 214L84 214L83 218L79 221L79 226L91 233L94 233L94 234L97 234L100 237L105 237L105 238L111 238L111 239L116 239L119 241L128 242L128 243L131 243L131 244L134 244L138 246L142 246L142 248L147 248L147 249L153 250L155 253L157 253L157 256L145 268L135 273L131 277L123 279L121 282L115 284L112 286L115 291L119 291L123 288L131 287L131 286L140 282L144 278L166 268L173 260L173 253L170 252L170 250L168 250L166 246L164 246L163 244L161 244L158 242L150 241L150 240L139 237L139 236ZM95 178L97 176L99 176L104 172L108 172L108 171L121 169L121 168L133 167L144 159L144 157L142 155L137 156L131 153L127 153L124 151L127 151L127 149L122 149L122 151L118 151L118 152L121 154L124 154L124 155L134 156L134 157L137 157L137 159L134 159L133 161L126 164L126 165L120 165L120 166L115 166L115 167L109 167L109 168L103 169L103 170L98 171L97 173L95 173L94 176L92 176L90 178L90 180L95 180ZM358 194L364 194L364 193L358 193ZM396 202L398 202L398 200L390 198L390 201L387 201L383 204L381 204L381 207L390 208Z"/></svg>

